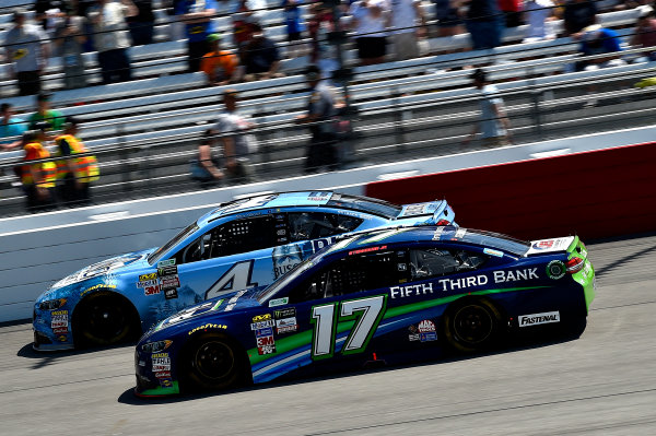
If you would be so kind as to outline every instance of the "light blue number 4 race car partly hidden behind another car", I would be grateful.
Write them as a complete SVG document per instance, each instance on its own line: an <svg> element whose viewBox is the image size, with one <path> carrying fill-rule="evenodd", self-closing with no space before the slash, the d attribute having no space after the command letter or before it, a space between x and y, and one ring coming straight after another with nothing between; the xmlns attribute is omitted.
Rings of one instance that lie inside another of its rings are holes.
<svg viewBox="0 0 656 436"><path fill-rule="evenodd" d="M34 349L138 339L185 307L272 283L337 235L452 223L446 201L398 207L337 192L288 192L221 204L156 249L84 268L34 305Z"/></svg>

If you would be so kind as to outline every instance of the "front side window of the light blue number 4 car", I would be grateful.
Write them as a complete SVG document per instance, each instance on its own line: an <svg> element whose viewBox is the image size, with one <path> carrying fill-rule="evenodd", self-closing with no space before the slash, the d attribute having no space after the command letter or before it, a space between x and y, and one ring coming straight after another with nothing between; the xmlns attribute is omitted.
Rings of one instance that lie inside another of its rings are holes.
<svg viewBox="0 0 656 436"><path fill-rule="evenodd" d="M271 215L231 221L207 232L177 256L177 263L271 248L277 245L276 220Z"/></svg>

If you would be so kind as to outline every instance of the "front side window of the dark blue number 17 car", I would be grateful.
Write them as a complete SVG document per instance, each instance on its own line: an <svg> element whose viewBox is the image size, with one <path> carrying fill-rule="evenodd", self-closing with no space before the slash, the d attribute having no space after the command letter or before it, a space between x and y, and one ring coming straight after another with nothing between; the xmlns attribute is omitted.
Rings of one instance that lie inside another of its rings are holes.
<svg viewBox="0 0 656 436"><path fill-rule="evenodd" d="M394 286L405 276L397 269L396 257L396 251L386 250L336 260L303 281L290 298L307 302Z"/></svg>

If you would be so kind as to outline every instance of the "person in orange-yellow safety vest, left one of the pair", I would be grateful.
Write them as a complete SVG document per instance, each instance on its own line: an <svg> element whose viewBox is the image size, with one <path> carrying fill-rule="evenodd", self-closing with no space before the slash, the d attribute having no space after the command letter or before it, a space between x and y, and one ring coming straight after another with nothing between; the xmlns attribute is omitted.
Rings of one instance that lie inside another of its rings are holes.
<svg viewBox="0 0 656 436"><path fill-rule="evenodd" d="M50 157L43 144L43 130L28 130L23 133L22 145L25 150L23 162ZM42 212L55 207L52 188L55 188L57 167L54 162L42 162L23 165L20 168L21 182L27 197L27 210Z"/></svg>

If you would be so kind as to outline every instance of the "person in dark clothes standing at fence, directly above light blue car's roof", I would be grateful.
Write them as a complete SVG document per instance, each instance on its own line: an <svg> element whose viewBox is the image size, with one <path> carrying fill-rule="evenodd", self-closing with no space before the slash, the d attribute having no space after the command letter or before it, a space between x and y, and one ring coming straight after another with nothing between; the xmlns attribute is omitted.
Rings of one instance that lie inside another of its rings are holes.
<svg viewBox="0 0 656 436"><path fill-rule="evenodd" d="M305 80L311 87L307 114L300 115L296 123L309 125L312 139L305 153L305 174L316 173L321 166L337 169L337 95L327 81L321 80L321 70L309 66Z"/></svg>

